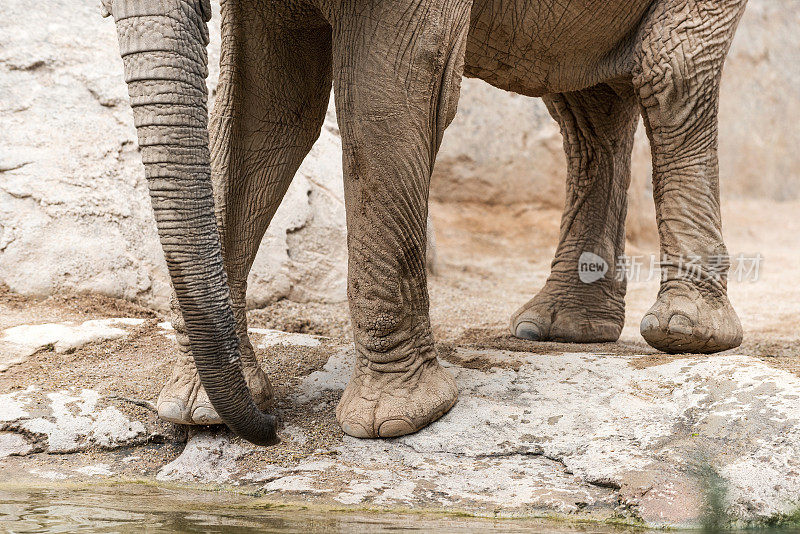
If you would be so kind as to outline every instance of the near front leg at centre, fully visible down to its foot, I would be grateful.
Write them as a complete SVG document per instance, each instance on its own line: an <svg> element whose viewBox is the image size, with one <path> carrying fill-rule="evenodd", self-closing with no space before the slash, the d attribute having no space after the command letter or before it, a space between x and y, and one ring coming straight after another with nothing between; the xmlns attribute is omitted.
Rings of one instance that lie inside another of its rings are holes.
<svg viewBox="0 0 800 534"><path fill-rule="evenodd" d="M416 432L458 395L436 358L425 248L428 186L455 113L469 8L409 0L334 16L356 348L336 417L351 436Z"/></svg>

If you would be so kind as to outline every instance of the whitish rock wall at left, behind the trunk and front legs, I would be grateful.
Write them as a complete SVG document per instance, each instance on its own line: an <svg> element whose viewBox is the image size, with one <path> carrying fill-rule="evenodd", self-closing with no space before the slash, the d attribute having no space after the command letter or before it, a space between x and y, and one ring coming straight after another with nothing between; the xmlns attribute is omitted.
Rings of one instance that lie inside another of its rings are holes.
<svg viewBox="0 0 800 534"><path fill-rule="evenodd" d="M218 11L218 3L215 3ZM113 21L99 2L3 3L0 283L92 291L166 310L156 235ZM219 73L211 25L209 88ZM345 298L341 142L331 109L265 236L252 306Z"/></svg>

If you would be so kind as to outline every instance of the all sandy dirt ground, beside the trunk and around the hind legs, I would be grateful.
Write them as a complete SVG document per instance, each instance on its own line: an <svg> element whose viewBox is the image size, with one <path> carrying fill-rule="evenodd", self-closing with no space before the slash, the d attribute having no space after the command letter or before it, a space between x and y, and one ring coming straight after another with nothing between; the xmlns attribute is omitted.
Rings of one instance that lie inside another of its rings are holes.
<svg viewBox="0 0 800 534"><path fill-rule="evenodd" d="M799 209L800 203L724 203L725 237L731 253L760 253L764 257L757 281L731 280L729 284L731 301L745 331L742 346L731 352L757 356L796 374L800 374L800 359L796 357L800 346ZM439 256L438 273L429 280L431 321L443 357L447 358L452 353L449 349L456 344L529 352L643 354L646 356L641 365L676 357L657 353L639 335L639 321L658 291L655 280L629 283L626 324L616 343L533 343L509 335L508 318L536 293L548 275L558 236L558 210L434 202L431 213ZM627 254L649 257L657 250L656 243L629 243ZM0 288L0 329L102 317L140 317L150 321L131 337L90 345L57 360L51 357L52 353L40 352L24 364L0 373L0 390L41 378L53 387L85 382L87 387L100 385L155 399L161 387L156 377L167 373L174 355L171 343L156 332L155 324L163 317L135 304L99 295L36 299ZM350 335L344 302L300 304L283 300L251 310L249 318L251 327L338 340ZM278 393L283 384L291 382L291 377L308 374L324 363L321 355L260 356Z"/></svg>

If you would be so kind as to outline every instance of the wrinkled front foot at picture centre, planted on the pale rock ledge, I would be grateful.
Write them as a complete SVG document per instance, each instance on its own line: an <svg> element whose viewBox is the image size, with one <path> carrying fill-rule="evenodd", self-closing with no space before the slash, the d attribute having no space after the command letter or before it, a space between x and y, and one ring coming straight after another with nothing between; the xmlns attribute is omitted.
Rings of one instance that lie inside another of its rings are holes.
<svg viewBox="0 0 800 534"><path fill-rule="evenodd" d="M456 403L453 376L436 360L412 373L365 369L350 380L336 407L336 419L356 438L412 434L436 421Z"/></svg>

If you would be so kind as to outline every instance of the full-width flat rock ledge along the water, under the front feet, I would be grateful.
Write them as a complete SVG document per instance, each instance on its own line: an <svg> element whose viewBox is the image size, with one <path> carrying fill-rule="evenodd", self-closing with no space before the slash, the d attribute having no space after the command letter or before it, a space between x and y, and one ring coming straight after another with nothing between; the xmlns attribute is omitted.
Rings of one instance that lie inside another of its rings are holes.
<svg viewBox="0 0 800 534"><path fill-rule="evenodd" d="M193 429L183 446L184 434L155 429L150 410L126 409L141 401L101 384L23 384L0 394L0 468L48 481L134 476L244 486L277 501L650 526L697 526L713 502L742 522L800 505L800 378L753 357L454 347L443 363L460 397L448 414L410 436L359 440L327 430L352 373L349 343L251 336L275 358L285 351L292 367L281 376L296 378L278 390L280 446L220 428ZM300 360L314 354L311 367Z"/></svg>

